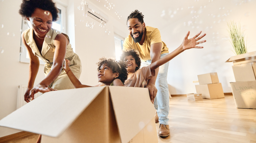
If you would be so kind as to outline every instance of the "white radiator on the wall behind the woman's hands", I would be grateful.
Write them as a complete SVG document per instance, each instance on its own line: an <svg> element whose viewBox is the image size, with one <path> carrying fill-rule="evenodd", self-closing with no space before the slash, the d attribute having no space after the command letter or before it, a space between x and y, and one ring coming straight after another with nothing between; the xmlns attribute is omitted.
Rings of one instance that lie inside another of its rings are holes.
<svg viewBox="0 0 256 143"><path fill-rule="evenodd" d="M19 85L18 86L18 95L17 95L17 109L19 109L21 106L27 104L27 102L24 100L24 94L27 91L28 85ZM37 92L34 95L34 98L37 98L40 95L40 92Z"/></svg>

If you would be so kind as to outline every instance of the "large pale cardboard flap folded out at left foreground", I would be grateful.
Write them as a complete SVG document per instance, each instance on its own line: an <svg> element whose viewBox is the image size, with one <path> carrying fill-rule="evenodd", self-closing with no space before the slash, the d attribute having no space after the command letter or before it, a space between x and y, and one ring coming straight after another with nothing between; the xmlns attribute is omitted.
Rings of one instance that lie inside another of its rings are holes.
<svg viewBox="0 0 256 143"><path fill-rule="evenodd" d="M57 137L106 87L46 92L0 120L0 126ZM72 100L71 100L72 99Z"/></svg>

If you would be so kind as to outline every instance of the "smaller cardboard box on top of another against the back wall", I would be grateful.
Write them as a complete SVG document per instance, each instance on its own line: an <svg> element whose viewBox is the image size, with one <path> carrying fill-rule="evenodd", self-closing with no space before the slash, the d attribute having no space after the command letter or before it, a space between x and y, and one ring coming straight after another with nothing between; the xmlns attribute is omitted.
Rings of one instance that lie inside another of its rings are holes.
<svg viewBox="0 0 256 143"><path fill-rule="evenodd" d="M200 74L197 77L200 85L219 83L217 72Z"/></svg>

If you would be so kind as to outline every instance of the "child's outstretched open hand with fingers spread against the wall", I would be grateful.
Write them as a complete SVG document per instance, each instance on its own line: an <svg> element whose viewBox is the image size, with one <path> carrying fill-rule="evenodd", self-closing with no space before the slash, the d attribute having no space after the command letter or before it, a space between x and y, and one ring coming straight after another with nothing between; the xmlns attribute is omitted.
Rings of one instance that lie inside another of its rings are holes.
<svg viewBox="0 0 256 143"><path fill-rule="evenodd" d="M196 46L197 44L201 44L201 43L204 43L206 42L206 40L203 40L203 41L200 41L200 42L197 42L198 40L200 40L201 38L203 38L206 34L203 34L202 36L198 37L200 34L201 34L202 31L200 31L196 36L194 36L193 38L191 39L187 39L188 36L189 36L189 31L187 33L187 35L185 36L181 46L183 48L183 50L187 50L187 49L191 49L191 48L203 48L203 47L199 47L199 46ZM198 37L198 38L197 38ZM197 38L197 39L196 39Z"/></svg>

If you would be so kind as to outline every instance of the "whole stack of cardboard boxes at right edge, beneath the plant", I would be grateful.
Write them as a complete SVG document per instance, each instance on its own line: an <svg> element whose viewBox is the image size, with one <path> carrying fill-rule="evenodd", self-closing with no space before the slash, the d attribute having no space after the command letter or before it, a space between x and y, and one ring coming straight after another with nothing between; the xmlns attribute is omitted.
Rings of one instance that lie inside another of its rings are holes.
<svg viewBox="0 0 256 143"><path fill-rule="evenodd" d="M237 108L256 109L256 51L230 57L236 82L230 83Z"/></svg>

